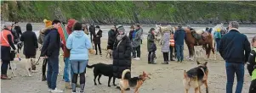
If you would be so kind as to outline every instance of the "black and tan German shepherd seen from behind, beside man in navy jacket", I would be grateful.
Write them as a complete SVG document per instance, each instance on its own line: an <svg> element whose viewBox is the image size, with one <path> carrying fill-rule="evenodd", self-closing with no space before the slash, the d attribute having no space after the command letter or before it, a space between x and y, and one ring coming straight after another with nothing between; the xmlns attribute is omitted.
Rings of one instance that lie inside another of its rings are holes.
<svg viewBox="0 0 256 93"><path fill-rule="evenodd" d="M201 85L205 85L206 93L208 93L208 62L199 63L197 67L191 68L188 72L184 71L183 85L185 86L185 93L188 93L190 88L195 88L195 93L201 93Z"/></svg>

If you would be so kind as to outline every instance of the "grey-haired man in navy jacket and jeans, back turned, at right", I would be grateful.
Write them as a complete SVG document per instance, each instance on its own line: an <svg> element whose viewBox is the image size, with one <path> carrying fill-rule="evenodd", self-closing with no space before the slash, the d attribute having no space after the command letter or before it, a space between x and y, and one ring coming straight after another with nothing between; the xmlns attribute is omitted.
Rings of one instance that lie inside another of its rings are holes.
<svg viewBox="0 0 256 93"><path fill-rule="evenodd" d="M219 42L219 53L225 59L227 74L226 93L232 93L234 74L236 73L236 93L242 93L244 63L251 51L247 36L238 31L239 24L230 22L230 32L223 36Z"/></svg>

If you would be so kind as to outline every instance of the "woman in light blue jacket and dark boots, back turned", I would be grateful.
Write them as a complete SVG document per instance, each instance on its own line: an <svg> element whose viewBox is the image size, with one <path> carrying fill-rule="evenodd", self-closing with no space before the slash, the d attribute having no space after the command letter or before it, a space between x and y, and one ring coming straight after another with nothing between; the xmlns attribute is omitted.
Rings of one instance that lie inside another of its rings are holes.
<svg viewBox="0 0 256 93"><path fill-rule="evenodd" d="M82 24L77 22L73 26L73 32L68 37L66 47L71 51L71 67L74 71L72 76L72 93L76 93L77 77L80 76L80 93L85 86L85 71L88 63L88 52L94 53L90 39L82 30Z"/></svg>

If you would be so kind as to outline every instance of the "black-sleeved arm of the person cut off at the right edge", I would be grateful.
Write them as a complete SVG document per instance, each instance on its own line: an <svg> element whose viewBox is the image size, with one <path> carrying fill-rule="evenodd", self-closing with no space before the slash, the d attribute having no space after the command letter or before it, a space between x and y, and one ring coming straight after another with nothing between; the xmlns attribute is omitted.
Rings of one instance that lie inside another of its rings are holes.
<svg viewBox="0 0 256 93"><path fill-rule="evenodd" d="M256 57L256 52L252 50L249 55L248 62L247 62L247 70L251 76L252 76L254 67L256 68L255 57Z"/></svg>

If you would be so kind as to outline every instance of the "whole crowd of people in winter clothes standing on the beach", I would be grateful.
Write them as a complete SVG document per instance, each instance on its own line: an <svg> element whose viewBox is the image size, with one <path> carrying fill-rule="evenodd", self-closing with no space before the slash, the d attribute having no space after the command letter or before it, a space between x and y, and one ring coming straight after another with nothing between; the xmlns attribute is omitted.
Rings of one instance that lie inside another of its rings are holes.
<svg viewBox="0 0 256 93"><path fill-rule="evenodd" d="M63 50L65 62L63 79L65 87L76 92L77 77L80 77L80 92L83 93L85 86L86 66L89 61L88 54L100 56L101 52L101 37L103 31L99 25L88 25L78 22L76 19L69 19L65 28L61 27L61 22L58 19L53 21L44 19L45 28L40 30L39 37L32 31L32 25L26 25L26 31L22 33L19 23L14 25L6 23L1 32L1 79L10 79L7 76L7 70L10 61L14 60L15 53L19 50L16 45L20 42L24 44L23 54L26 59L36 58L37 49L40 49L40 57L43 57L42 81L47 81L48 90L50 92L63 92L56 87L57 76L59 74L59 55L60 48ZM225 59L225 68L227 74L226 92L232 93L232 85L234 82L234 74L237 77L236 93L242 92L244 65L247 63L247 68L252 75L252 84L250 93L256 92L256 36L251 42L253 50L251 51L250 42L247 36L242 35L238 31L239 24L232 21L228 27L228 33L222 34L221 30L216 30L213 33L216 49L221 57ZM62 32L65 29L67 38ZM212 29L206 29L209 33ZM107 49L112 50L113 58L113 75L121 79L122 71L131 69L132 59L140 60L140 47L142 46L143 29L141 25L131 25L129 34L127 35L122 25L113 25L108 31ZM148 63L156 64L156 32L154 28L148 31L147 36L147 51ZM163 31L161 52L163 57L162 64L168 64L174 61L184 61L184 43L185 30L182 25L178 25L175 32L170 30ZM38 46L41 45L41 47ZM232 47L232 48L226 48ZM46 74L46 66L48 71ZM30 70L36 70L36 65L32 65ZM71 79L70 79L71 76Z"/></svg>

